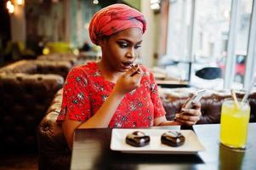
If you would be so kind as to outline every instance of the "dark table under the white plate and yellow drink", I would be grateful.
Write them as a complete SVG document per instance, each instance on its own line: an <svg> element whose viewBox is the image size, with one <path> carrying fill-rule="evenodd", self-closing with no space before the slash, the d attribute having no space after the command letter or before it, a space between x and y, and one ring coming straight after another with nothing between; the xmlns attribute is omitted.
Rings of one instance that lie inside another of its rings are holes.
<svg viewBox="0 0 256 170"><path fill-rule="evenodd" d="M256 169L256 123L249 126L245 152L219 145L219 124L194 128L206 148L195 155L124 154L110 149L111 129L77 129L71 169Z"/></svg>

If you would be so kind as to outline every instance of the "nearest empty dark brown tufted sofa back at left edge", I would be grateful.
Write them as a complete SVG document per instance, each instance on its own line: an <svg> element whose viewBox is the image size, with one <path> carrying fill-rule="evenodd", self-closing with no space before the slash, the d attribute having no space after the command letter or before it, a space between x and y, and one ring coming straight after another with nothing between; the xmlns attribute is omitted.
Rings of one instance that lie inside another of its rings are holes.
<svg viewBox="0 0 256 170"><path fill-rule="evenodd" d="M63 85L59 75L0 74L0 150L36 150L36 127Z"/></svg>

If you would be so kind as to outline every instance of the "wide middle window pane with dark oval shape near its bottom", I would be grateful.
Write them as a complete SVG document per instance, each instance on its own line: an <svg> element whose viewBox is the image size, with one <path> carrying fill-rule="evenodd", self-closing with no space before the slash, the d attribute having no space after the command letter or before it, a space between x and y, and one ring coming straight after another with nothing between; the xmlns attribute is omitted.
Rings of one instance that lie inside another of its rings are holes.
<svg viewBox="0 0 256 170"><path fill-rule="evenodd" d="M191 85L223 88L231 0L197 0Z"/></svg>

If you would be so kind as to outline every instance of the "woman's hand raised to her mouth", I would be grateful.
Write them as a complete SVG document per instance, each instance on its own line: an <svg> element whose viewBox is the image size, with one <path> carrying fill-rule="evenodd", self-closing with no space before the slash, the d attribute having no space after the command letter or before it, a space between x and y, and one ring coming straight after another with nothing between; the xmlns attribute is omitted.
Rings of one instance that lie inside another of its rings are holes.
<svg viewBox="0 0 256 170"><path fill-rule="evenodd" d="M121 77L118 78L114 91L122 95L131 92L135 88L139 87L142 76L143 71L141 68L139 68L139 66L130 68L128 71L122 74Z"/></svg>

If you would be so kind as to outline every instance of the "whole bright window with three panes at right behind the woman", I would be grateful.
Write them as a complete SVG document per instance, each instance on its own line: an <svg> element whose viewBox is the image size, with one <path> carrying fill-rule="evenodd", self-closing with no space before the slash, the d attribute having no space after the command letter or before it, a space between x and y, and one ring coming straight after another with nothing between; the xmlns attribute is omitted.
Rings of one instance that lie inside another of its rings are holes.
<svg viewBox="0 0 256 170"><path fill-rule="evenodd" d="M191 23L193 2L170 0L167 55L160 59L159 64L167 65L166 69L171 76L188 80L191 62L192 86L224 88L232 0L196 0L194 23ZM232 82L230 88L243 88L252 3L253 0L240 0L238 6L235 76L234 80L225 77Z"/></svg>

